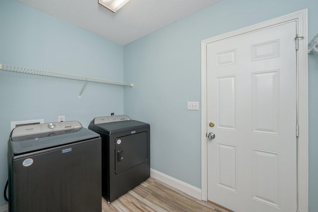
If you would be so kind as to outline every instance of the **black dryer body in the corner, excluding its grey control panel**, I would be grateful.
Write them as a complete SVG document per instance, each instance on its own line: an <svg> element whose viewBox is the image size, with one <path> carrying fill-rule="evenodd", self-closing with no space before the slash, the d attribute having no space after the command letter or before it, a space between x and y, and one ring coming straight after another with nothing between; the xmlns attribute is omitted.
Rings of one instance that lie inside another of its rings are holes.
<svg viewBox="0 0 318 212"><path fill-rule="evenodd" d="M99 118L99 117L98 117ZM94 124L102 138L102 196L112 202L150 177L150 125L121 120Z"/></svg>

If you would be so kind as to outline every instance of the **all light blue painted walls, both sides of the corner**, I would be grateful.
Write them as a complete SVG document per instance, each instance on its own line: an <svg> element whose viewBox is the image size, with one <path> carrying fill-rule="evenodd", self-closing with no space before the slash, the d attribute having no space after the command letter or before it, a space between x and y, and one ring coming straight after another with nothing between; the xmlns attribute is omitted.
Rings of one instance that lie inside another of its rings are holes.
<svg viewBox="0 0 318 212"><path fill-rule="evenodd" d="M89 121L110 112L151 124L152 168L201 188L200 42L301 9L309 10L309 39L318 32L317 0L221 0L126 46L33 9L0 1L0 63L100 79L118 87L0 71L0 189L7 179L10 121L58 115ZM318 208L318 53L309 55L309 207ZM5 201L1 197L0 205Z"/></svg>

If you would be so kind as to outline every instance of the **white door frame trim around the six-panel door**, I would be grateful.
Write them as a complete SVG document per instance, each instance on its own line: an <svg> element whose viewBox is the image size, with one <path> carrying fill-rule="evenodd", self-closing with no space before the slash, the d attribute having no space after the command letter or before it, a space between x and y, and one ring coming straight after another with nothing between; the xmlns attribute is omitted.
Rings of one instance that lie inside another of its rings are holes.
<svg viewBox="0 0 318 212"><path fill-rule="evenodd" d="M248 26L236 31L215 36L201 42L201 199L208 199L207 178L207 45L212 42L238 36L262 28L296 21L299 39L297 51L297 120L299 136L297 140L298 169L298 210L308 212L308 15L307 9L294 12L269 21ZM295 129L296 133L296 129Z"/></svg>

